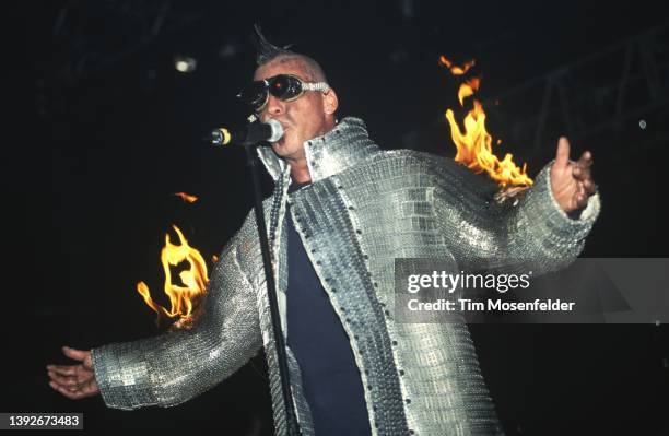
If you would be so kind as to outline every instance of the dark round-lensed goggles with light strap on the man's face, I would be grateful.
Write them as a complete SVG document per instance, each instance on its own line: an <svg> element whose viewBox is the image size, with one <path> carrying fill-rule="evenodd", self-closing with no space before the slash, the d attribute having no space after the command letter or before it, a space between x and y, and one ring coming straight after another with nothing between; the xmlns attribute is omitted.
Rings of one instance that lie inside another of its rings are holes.
<svg viewBox="0 0 669 436"><path fill-rule="evenodd" d="M292 102L300 98L305 91L326 92L329 89L325 82L304 82L296 75L279 74L249 83L237 97L259 113L267 106L270 94L282 102Z"/></svg>

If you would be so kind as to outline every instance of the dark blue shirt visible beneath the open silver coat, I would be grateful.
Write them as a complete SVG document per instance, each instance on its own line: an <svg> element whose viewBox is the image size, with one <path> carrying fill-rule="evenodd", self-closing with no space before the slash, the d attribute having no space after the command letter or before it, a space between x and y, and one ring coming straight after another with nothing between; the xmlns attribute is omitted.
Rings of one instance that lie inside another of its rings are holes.
<svg viewBox="0 0 669 436"><path fill-rule="evenodd" d="M290 211L286 221L287 345L302 369L316 436L369 435L362 379L349 337L307 257Z"/></svg>

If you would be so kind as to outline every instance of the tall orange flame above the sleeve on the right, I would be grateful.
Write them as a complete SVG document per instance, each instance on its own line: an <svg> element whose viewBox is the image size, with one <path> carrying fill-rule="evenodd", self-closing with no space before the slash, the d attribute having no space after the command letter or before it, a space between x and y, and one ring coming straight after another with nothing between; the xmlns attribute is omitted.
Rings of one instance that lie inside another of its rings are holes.
<svg viewBox="0 0 669 436"><path fill-rule="evenodd" d="M442 56L439 61L445 63L454 75L460 75L459 71L469 70L469 67L473 66L473 60L470 63L465 64L462 69L458 69L454 72L457 67L451 67L453 63ZM471 78L460 84L458 90L458 101L460 106L465 106L465 98L472 96L481 84L479 78ZM455 161L466 165L469 169L476 173L488 173L488 175L495 180L502 188L510 186L526 186L532 185L532 179L527 176L527 165L524 164L523 168L514 163L513 154L506 153L504 158L500 161L492 152L493 138L485 129L485 111L481 102L473 99L473 108L467 114L463 120L465 132L460 130L460 126L455 119L454 111L451 109L446 110L446 119L450 125L450 137L456 145L457 153ZM497 140L497 145L502 143Z"/></svg>

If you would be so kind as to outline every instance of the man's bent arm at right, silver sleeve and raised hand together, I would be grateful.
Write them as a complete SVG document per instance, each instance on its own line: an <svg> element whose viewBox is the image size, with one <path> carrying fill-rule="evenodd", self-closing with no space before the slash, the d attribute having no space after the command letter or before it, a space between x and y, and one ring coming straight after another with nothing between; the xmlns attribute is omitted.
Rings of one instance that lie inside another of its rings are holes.
<svg viewBox="0 0 669 436"><path fill-rule="evenodd" d="M591 155L571 162L568 153L568 142L561 139L555 161L535 185L502 204L490 189L466 189L481 185L473 175L463 177L461 188L443 184L436 189L439 227L462 268L544 273L578 256L599 213L599 195L590 177ZM580 213L575 219L568 212Z"/></svg>

